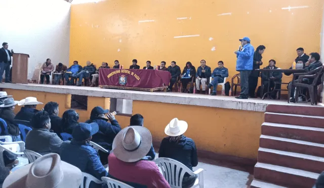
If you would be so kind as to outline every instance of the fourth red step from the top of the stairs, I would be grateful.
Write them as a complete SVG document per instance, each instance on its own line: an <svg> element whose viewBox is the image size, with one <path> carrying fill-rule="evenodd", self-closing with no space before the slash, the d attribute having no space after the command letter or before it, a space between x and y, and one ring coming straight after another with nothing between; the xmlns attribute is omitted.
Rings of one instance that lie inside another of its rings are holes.
<svg viewBox="0 0 324 188"><path fill-rule="evenodd" d="M285 152L324 157L324 144L313 143L275 136L260 136L260 147L276 149Z"/></svg>

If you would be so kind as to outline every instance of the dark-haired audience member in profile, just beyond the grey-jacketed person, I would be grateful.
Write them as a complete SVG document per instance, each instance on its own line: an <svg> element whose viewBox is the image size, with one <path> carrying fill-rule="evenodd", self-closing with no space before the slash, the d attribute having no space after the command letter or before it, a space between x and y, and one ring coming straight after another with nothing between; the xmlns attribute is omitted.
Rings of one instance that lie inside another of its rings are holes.
<svg viewBox="0 0 324 188"><path fill-rule="evenodd" d="M49 113L51 119L51 130L55 132L57 135L60 135L62 132L62 118L59 116L59 104L56 102L48 102L44 106L44 110Z"/></svg>

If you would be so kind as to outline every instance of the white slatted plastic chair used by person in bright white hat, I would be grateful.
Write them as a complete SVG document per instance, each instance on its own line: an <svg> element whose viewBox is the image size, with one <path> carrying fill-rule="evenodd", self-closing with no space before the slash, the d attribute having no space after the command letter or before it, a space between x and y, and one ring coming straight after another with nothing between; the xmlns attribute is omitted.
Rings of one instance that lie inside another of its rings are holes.
<svg viewBox="0 0 324 188"><path fill-rule="evenodd" d="M161 168L163 176L173 188L182 188L182 179L187 172L189 175L197 174L197 179L192 187L204 188L204 169L199 168L192 172L184 164L169 158L157 158L155 163ZM171 168L170 168L171 167ZM176 169L176 172L175 172ZM181 172L180 172L180 169Z"/></svg>

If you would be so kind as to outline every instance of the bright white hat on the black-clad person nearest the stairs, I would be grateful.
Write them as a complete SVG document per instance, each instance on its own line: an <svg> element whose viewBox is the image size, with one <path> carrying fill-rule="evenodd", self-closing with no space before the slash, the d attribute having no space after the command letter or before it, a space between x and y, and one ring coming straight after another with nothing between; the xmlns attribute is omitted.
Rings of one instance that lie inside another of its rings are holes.
<svg viewBox="0 0 324 188"><path fill-rule="evenodd" d="M167 125L164 132L168 136L180 136L186 132L188 129L188 124L185 121L180 121L178 118L171 120L171 122Z"/></svg>

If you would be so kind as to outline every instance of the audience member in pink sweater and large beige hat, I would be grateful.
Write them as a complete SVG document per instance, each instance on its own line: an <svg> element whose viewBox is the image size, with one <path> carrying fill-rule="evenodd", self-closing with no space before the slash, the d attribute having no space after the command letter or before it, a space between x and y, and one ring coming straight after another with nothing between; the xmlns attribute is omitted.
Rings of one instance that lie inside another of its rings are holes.
<svg viewBox="0 0 324 188"><path fill-rule="evenodd" d="M157 165L143 159L151 144L151 133L145 127L130 126L121 130L112 142L112 153L108 157L108 177L133 187L170 187Z"/></svg>

